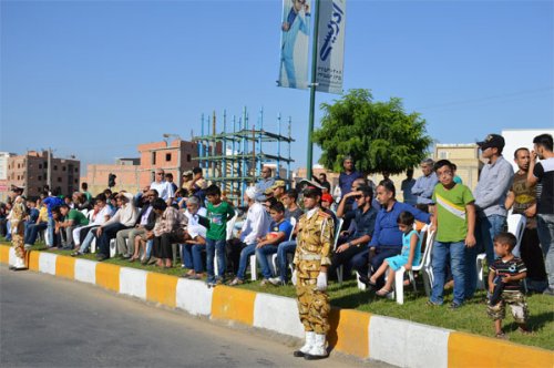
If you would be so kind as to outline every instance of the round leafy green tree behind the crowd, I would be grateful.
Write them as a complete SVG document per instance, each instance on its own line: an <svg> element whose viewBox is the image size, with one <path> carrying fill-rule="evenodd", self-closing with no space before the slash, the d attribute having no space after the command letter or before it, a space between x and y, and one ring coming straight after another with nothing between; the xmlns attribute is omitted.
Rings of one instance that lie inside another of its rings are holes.
<svg viewBox="0 0 554 368"><path fill-rule="evenodd" d="M418 165L432 143L425 120L417 112L407 114L398 98L375 102L370 91L350 90L320 109L325 116L314 142L322 150L319 163L335 172L350 155L362 173L398 174Z"/></svg>

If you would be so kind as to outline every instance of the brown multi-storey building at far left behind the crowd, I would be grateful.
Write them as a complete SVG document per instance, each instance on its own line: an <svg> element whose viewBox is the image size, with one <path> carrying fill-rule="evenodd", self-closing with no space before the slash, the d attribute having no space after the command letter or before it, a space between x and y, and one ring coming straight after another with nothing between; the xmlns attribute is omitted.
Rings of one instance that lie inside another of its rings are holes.
<svg viewBox="0 0 554 368"><path fill-rule="evenodd" d="M62 194L79 191L79 173L81 163L74 159L49 157L48 151L29 151L23 155L8 157L7 191L11 185L24 188L27 196L39 196L44 185L60 188ZM2 197L3 197L2 193Z"/></svg>

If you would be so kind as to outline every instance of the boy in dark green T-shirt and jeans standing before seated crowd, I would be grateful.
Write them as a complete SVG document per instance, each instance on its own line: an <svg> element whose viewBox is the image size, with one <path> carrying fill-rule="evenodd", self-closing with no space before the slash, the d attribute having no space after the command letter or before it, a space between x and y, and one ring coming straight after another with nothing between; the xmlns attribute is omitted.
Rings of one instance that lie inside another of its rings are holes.
<svg viewBox="0 0 554 368"><path fill-rule="evenodd" d="M227 237L227 222L235 216L235 209L228 202L222 201L222 191L217 185L206 188L207 218L206 232L206 269L208 287L223 283L225 275L225 241ZM214 275L214 257L217 254L217 278Z"/></svg>

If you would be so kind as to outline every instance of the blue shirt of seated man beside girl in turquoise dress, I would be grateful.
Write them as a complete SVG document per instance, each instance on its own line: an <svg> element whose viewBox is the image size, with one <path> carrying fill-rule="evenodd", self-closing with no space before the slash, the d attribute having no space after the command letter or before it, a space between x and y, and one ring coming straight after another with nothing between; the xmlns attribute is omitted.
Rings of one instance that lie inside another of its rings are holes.
<svg viewBox="0 0 554 368"><path fill-rule="evenodd" d="M402 232L398 228L398 216L404 211L411 213L420 222L430 223L431 215L428 213L409 204L394 202L391 211L387 211L387 207L379 209L373 237L369 243L371 247L398 246L400 248L402 246Z"/></svg>

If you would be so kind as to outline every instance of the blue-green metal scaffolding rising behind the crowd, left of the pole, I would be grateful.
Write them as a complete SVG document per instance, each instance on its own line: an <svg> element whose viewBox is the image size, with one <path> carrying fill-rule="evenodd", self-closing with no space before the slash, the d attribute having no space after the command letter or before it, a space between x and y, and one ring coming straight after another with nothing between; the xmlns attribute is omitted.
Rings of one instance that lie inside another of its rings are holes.
<svg viewBox="0 0 554 368"><path fill-rule="evenodd" d="M288 117L288 135L281 134L283 119L277 116L278 132L264 130L264 110L260 109L256 124L248 124L248 111L244 108L242 115L233 115L227 122L227 113L223 112L223 130L217 132L216 113L202 115L202 135L193 136L198 144L198 166L203 168L206 180L217 183L227 197L235 203L243 203L248 183L255 183L260 176L261 167L275 164L276 176L280 175L281 165L286 168L286 181L290 183L290 136L291 119ZM232 126L230 126L232 125ZM233 131L228 129L233 127ZM281 144L286 144L287 156L281 155ZM267 146L270 150L267 151ZM276 147L275 147L276 145ZM271 149L274 151L271 151ZM275 152L275 149L277 152Z"/></svg>

